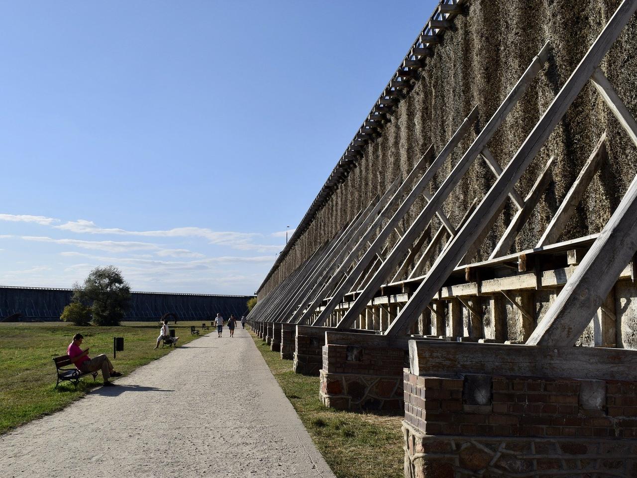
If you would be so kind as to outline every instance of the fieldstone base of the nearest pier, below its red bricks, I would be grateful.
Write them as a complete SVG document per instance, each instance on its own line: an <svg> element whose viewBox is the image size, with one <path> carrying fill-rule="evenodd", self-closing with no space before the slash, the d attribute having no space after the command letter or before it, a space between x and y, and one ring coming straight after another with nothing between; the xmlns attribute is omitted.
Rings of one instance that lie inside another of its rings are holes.
<svg viewBox="0 0 637 478"><path fill-rule="evenodd" d="M403 421L406 478L637 477L637 440L424 435Z"/></svg>

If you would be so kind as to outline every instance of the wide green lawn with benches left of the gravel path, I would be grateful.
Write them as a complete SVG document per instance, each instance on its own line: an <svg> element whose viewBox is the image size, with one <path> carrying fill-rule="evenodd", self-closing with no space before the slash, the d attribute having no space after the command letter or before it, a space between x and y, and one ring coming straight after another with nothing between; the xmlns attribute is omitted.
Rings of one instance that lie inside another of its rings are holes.
<svg viewBox="0 0 637 478"><path fill-rule="evenodd" d="M55 388L53 358L66 355L66 347L75 333L84 336L82 349L89 356L106 354L115 370L127 374L135 368L168 354L173 348L153 350L159 335L157 322L122 322L120 327L77 327L64 322L0 322L4 338L0 352L0 433L32 419L60 410L78 400L90 389L101 386L101 373L93 382L90 375L80 380L77 390L70 382ZM179 322L175 327L179 344L197 338L190 326L198 322ZM124 337L124 351L113 359L113 337Z"/></svg>

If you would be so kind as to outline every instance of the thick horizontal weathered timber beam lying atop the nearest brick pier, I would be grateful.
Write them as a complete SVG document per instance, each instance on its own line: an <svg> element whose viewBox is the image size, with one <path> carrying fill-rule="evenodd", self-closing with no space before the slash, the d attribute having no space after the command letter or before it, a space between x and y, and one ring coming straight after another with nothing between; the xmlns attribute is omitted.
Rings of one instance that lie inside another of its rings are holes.
<svg viewBox="0 0 637 478"><path fill-rule="evenodd" d="M485 373L563 379L637 380L637 352L410 340L414 375Z"/></svg>

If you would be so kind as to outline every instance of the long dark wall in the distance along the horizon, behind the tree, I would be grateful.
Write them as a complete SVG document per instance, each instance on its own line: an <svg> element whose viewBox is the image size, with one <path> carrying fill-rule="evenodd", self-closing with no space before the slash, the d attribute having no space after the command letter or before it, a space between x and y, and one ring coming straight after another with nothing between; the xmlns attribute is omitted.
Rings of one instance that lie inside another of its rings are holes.
<svg viewBox="0 0 637 478"><path fill-rule="evenodd" d="M0 287L0 320L55 321L71 302L72 289ZM217 312L241 317L253 296L133 292L125 321L155 321L175 314L179 320L211 320Z"/></svg>

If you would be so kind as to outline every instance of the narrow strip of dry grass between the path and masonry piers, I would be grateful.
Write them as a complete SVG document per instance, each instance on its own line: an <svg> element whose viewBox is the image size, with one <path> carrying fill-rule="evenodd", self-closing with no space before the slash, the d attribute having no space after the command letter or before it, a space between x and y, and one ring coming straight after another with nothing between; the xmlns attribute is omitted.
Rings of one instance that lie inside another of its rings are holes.
<svg viewBox="0 0 637 478"><path fill-rule="evenodd" d="M252 333L252 332L251 332ZM338 478L403 478L403 414L382 416L327 409L318 377L292 371L292 361L252 334L283 393Z"/></svg>

